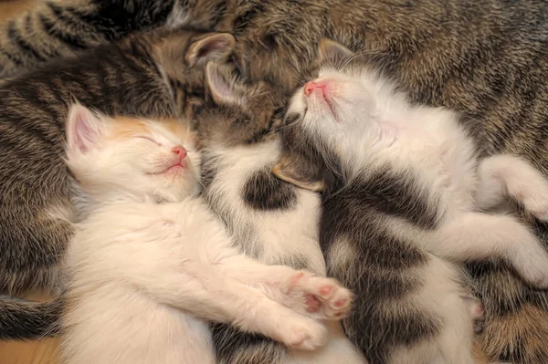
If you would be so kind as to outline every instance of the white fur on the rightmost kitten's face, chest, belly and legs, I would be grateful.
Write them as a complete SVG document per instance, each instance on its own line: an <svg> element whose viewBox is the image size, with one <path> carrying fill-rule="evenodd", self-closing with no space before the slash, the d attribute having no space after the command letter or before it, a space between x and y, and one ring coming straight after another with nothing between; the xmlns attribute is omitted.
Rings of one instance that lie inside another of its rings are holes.
<svg viewBox="0 0 548 364"><path fill-rule="evenodd" d="M458 263L503 258L529 283L548 286L548 255L532 232L511 216L479 209L511 196L546 220L548 182L525 161L508 155L480 161L478 169L473 140L458 124L456 113L411 105L374 71L324 68L315 82L328 86L325 91L315 88L310 96L302 88L289 113L304 113L303 127L335 153L349 171L350 182L390 165L416 172L432 198L441 196L436 230L398 220L388 224L394 234L413 239L429 253L427 268L417 272L424 289L409 299L444 319L441 335L413 348L397 348L391 362L473 363L474 308L461 297ZM388 304L386 309L398 307Z"/></svg>

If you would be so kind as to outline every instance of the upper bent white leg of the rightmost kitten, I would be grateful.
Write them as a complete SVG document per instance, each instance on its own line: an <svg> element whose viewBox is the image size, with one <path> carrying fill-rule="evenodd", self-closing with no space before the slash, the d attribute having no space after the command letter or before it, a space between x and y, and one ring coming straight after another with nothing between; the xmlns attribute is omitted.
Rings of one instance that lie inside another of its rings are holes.
<svg viewBox="0 0 548 364"><path fill-rule="evenodd" d="M522 203L540 220L548 220L548 177L527 161L508 154L485 158L478 166L479 208L489 209L506 196Z"/></svg>

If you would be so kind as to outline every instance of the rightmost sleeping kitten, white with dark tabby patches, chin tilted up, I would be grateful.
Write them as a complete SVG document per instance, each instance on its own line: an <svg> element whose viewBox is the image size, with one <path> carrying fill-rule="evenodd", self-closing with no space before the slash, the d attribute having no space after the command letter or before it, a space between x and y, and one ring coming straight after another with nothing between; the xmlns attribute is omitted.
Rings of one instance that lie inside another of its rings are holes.
<svg viewBox="0 0 548 364"><path fill-rule="evenodd" d="M279 178L321 191L328 274L356 293L343 326L371 364L474 363L461 263L501 259L548 287L548 254L506 196L548 217L548 181L517 157L481 159L458 114L411 104L333 42L338 62L294 95Z"/></svg>

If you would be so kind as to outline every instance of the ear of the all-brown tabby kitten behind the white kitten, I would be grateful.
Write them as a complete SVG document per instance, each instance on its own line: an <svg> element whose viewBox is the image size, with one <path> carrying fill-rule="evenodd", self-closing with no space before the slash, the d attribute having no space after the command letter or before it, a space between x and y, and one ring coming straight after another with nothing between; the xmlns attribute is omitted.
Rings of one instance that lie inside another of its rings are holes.
<svg viewBox="0 0 548 364"><path fill-rule="evenodd" d="M190 67L195 64L227 57L236 46L236 38L230 33L211 33L196 40L188 47L186 61Z"/></svg>

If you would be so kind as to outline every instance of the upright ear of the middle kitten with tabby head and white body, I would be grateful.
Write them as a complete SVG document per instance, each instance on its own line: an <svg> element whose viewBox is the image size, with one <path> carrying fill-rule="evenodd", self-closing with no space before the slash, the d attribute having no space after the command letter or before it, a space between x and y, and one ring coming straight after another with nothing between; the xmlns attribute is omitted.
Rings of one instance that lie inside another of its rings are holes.
<svg viewBox="0 0 548 364"><path fill-rule="evenodd" d="M205 83L211 97L220 105L243 105L245 89L236 81L231 69L222 67L215 62L205 66Z"/></svg>

